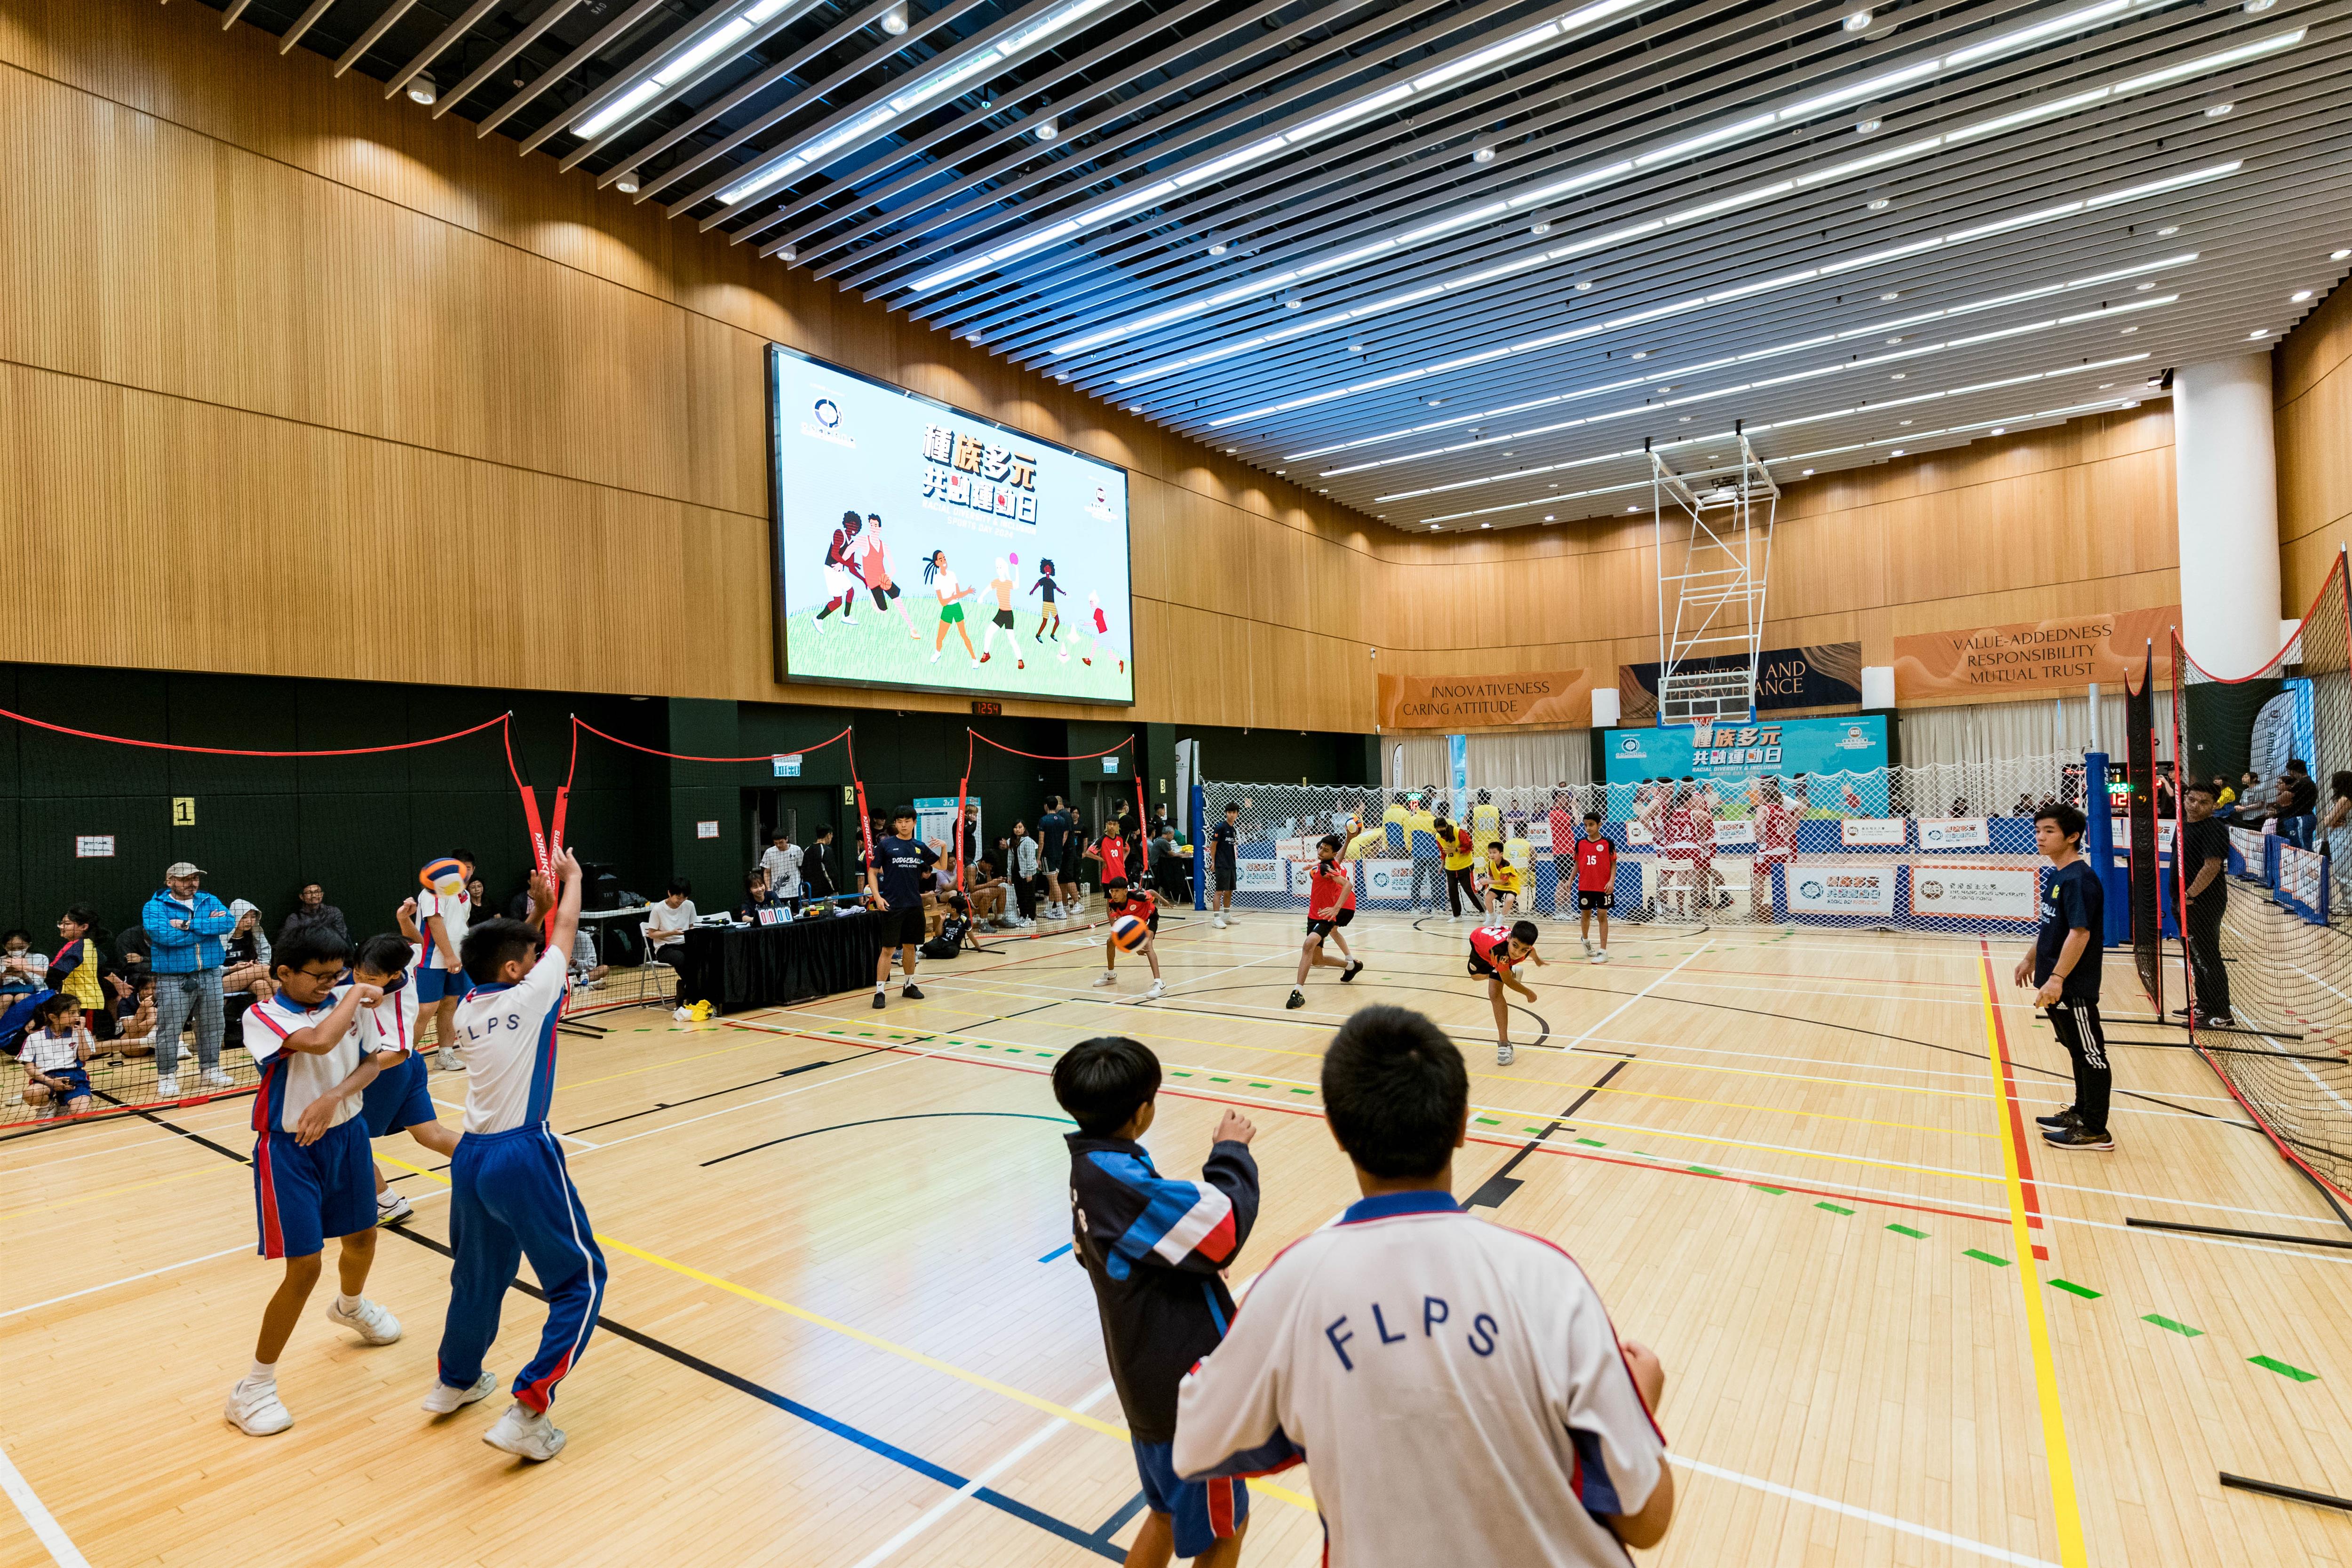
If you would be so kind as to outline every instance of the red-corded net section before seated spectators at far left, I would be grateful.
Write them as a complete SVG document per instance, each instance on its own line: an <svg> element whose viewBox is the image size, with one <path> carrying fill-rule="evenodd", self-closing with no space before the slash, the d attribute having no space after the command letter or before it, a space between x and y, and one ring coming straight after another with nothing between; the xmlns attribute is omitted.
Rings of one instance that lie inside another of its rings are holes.
<svg viewBox="0 0 2352 1568"><path fill-rule="evenodd" d="M7 867L21 924L0 957L0 1135L252 1091L245 1013L270 994L292 929L318 922L358 947L400 929L426 863L475 856L485 889L529 865L534 802L510 712L374 745L358 743L381 733L374 712L240 715L245 733L313 741L270 750L0 719L24 780ZM158 729L216 724L167 712ZM176 865L202 870L186 903L165 879ZM40 1037L52 997L73 1004L87 1060Z"/></svg>

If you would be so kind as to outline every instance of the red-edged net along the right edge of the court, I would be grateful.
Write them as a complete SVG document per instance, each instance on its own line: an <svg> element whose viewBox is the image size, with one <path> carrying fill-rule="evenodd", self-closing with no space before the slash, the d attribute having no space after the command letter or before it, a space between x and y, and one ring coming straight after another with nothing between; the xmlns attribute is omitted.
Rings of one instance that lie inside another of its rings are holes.
<svg viewBox="0 0 2352 1568"><path fill-rule="evenodd" d="M2279 1154L2352 1225L2352 595L2345 557L2279 656L2220 679L2173 639L2171 726L2183 780L2246 790L2220 832L2166 802L2178 842L2225 856L2204 889L2166 879L2187 936L2190 1039ZM2253 776L2249 788L2244 778ZM2190 891L2197 891L2190 898Z"/></svg>

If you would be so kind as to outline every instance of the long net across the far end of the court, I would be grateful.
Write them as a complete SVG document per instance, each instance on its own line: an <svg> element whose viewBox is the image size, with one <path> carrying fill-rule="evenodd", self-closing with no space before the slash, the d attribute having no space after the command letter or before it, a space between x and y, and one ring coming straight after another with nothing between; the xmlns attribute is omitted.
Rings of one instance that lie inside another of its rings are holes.
<svg viewBox="0 0 2352 1568"><path fill-rule="evenodd" d="M1468 919L1494 891L1496 914L1571 919L1590 813L1613 851L1613 922L2030 940L2046 875L2032 813L2089 788L2082 755L2046 755L1712 783L1202 783L1197 806L1202 832L1235 806L1237 910L1303 910L1317 842L1336 837L1362 912Z"/></svg>

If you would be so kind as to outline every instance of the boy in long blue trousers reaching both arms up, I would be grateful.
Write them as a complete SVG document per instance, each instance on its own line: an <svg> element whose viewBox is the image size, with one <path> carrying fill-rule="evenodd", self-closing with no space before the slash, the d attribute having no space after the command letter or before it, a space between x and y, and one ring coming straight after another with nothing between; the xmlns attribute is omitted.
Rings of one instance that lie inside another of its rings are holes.
<svg viewBox="0 0 2352 1568"><path fill-rule="evenodd" d="M489 919L466 933L473 990L456 1009L466 1044L466 1135L449 1164L449 1324L440 1378L423 1408L447 1415L489 1394L499 1378L482 1354L499 1338L499 1307L529 1258L548 1298L539 1354L515 1373L515 1403L482 1434L492 1448L553 1460L564 1434L548 1420L555 1385L579 1363L604 1300L604 1253L590 1234L564 1147L548 1131L555 1095L555 1023L564 966L581 917L581 865L557 856L562 900L546 945L517 919ZM539 898L541 907L546 898Z"/></svg>

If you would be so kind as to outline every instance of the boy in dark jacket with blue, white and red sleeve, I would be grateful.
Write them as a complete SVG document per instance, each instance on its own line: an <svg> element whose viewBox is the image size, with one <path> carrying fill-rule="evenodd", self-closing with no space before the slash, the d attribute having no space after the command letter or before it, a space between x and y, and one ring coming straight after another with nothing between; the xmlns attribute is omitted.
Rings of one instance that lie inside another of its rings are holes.
<svg viewBox="0 0 2352 1568"><path fill-rule="evenodd" d="M1110 1380L1150 1514L1129 1568L1167 1568L1169 1554L1232 1568L1249 1528L1249 1490L1235 1479L1178 1481L1176 1385L1214 1352L1232 1321L1223 1269L1258 1220L1256 1128L1228 1110L1197 1182L1152 1168L1136 1143L1152 1126L1160 1058L1122 1037L1087 1039L1054 1063L1054 1098L1077 1131L1070 1143L1070 1239L1094 1281Z"/></svg>

